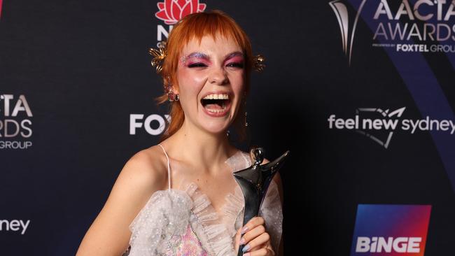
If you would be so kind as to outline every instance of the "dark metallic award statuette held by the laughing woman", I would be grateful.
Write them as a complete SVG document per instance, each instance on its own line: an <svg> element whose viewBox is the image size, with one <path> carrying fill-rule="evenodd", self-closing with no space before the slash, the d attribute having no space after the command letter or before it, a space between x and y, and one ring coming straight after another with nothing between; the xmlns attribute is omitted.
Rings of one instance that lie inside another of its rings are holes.
<svg viewBox="0 0 455 256"><path fill-rule="evenodd" d="M234 173L235 180L239 183L245 199L244 225L259 214L259 209L265 198L269 184L288 155L289 150L273 162L260 165L264 160L264 150L262 148L253 148L250 151L251 162L253 164L247 169ZM243 248L244 246L239 246L237 256L244 255Z"/></svg>

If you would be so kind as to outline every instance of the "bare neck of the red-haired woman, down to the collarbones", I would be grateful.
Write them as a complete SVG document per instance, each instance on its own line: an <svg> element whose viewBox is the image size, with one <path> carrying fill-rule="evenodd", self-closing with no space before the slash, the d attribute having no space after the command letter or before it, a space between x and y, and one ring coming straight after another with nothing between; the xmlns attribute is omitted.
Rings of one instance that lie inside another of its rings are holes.
<svg viewBox="0 0 455 256"><path fill-rule="evenodd" d="M209 133L190 125L187 120L165 143L168 144L169 155L174 159L205 171L218 171L221 164L235 151L225 131L219 134Z"/></svg>

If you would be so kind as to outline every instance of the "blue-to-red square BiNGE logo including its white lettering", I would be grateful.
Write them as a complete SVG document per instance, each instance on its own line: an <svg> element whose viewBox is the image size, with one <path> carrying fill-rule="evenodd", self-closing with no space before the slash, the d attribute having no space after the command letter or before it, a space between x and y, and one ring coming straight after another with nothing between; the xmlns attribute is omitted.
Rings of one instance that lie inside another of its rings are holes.
<svg viewBox="0 0 455 256"><path fill-rule="evenodd" d="M423 256L428 205L359 204L351 256Z"/></svg>

